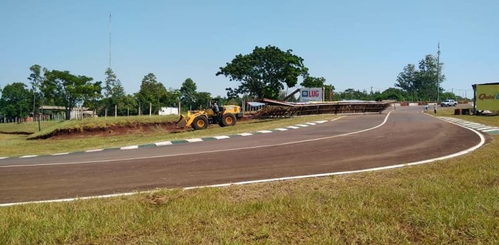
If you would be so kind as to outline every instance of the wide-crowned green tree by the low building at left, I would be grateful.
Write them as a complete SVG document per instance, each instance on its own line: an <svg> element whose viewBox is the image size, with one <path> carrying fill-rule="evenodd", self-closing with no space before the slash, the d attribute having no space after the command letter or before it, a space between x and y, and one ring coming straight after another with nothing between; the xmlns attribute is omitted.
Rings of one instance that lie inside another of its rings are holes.
<svg viewBox="0 0 499 245"><path fill-rule="evenodd" d="M65 108L66 119L71 119L71 110L84 99L92 96L92 77L72 75L60 70L46 70L45 80L41 83L41 91L48 99Z"/></svg>

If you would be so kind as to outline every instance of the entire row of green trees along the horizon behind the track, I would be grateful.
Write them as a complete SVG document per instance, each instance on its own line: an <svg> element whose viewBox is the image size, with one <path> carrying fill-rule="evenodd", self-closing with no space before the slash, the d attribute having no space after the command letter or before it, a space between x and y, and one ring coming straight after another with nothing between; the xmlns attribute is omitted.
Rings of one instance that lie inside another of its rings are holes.
<svg viewBox="0 0 499 245"><path fill-rule="evenodd" d="M236 55L231 62L220 67L216 76L224 75L230 81L238 83L237 87L227 87L227 97L222 98L226 104L237 104L241 99L252 101L262 98L284 99L290 88L325 87L326 94L332 94L330 100L359 99L398 101L429 101L441 97L456 97L454 94L443 94L441 82L445 80L442 72L443 63L438 63L433 55L426 55L416 65L409 64L396 77L394 87L383 92L367 92L345 89L335 92L334 86L326 84L324 77L309 75L304 59L294 55L292 50L281 50L275 46L255 47L252 53ZM166 88L163 82L151 72L143 77L140 89L135 94L126 94L123 85L113 70L108 68L106 79L94 82L92 77L73 75L64 70L48 70L41 65L29 67L31 74L24 82L14 82L0 88L0 116L26 117L39 113L41 105L64 107L66 119L69 119L74 107L88 107L98 116L106 114L140 114L152 111L158 114L161 107L177 107L197 109L204 107L211 94L197 92L196 83L187 78L180 89ZM297 98L291 97L296 101ZM115 108L117 110L115 111Z"/></svg>

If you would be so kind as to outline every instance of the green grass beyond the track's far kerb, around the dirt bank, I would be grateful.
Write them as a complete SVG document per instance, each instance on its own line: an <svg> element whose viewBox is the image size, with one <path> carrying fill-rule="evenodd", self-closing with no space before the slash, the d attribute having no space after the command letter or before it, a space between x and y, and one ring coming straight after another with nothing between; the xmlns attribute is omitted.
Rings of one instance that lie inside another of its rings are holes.
<svg viewBox="0 0 499 245"><path fill-rule="evenodd" d="M187 138L201 138L206 136L221 136L228 134L239 134L245 132L259 131L264 129L275 129L283 126L292 126L309 121L318 121L325 119L334 119L334 115L316 115L300 116L290 119L267 119L267 120L249 120L238 121L236 126L221 128L217 125L211 125L207 130L186 131L182 133L171 134L161 128L153 128L147 132L135 132L125 135L105 134L104 136L81 136L71 139L38 139L26 140L31 136L19 136L10 134L0 134L0 157L7 156L25 156L25 155L43 155L53 153L64 153L73 151L86 151L97 148L113 148L120 146L133 146L145 143L155 143L160 141L173 141ZM56 129L73 129L80 131L83 127L105 127L109 125L126 125L140 122L158 122L158 121L176 121L178 116L130 116L130 118L108 118L103 119L85 119L82 121L72 120L56 122L44 127L39 134L49 134ZM31 123L33 124L33 123ZM4 126L4 125L1 125ZM25 128L26 129L26 128ZM0 127L0 131L3 130Z"/></svg>

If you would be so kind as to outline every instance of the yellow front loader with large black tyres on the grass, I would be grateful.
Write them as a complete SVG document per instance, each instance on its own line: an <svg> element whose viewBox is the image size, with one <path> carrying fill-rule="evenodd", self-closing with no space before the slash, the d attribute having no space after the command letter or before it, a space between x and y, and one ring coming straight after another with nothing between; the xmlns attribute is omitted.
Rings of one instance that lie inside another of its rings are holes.
<svg viewBox="0 0 499 245"><path fill-rule="evenodd" d="M213 109L202 111L187 111L187 116L180 115L177 126L185 128L192 126L192 129L207 129L209 124L219 124L220 126L234 126L237 119L242 118L240 106L228 105L220 107L220 112L215 113Z"/></svg>

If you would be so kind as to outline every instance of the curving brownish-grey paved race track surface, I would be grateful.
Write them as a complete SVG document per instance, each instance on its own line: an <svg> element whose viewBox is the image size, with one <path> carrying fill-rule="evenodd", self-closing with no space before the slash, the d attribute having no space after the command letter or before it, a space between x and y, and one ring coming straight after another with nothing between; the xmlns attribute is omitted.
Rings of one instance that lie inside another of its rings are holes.
<svg viewBox="0 0 499 245"><path fill-rule="evenodd" d="M0 204L155 187L361 170L447 156L475 146L468 129L421 108L345 116L302 129L126 151L0 160Z"/></svg>

